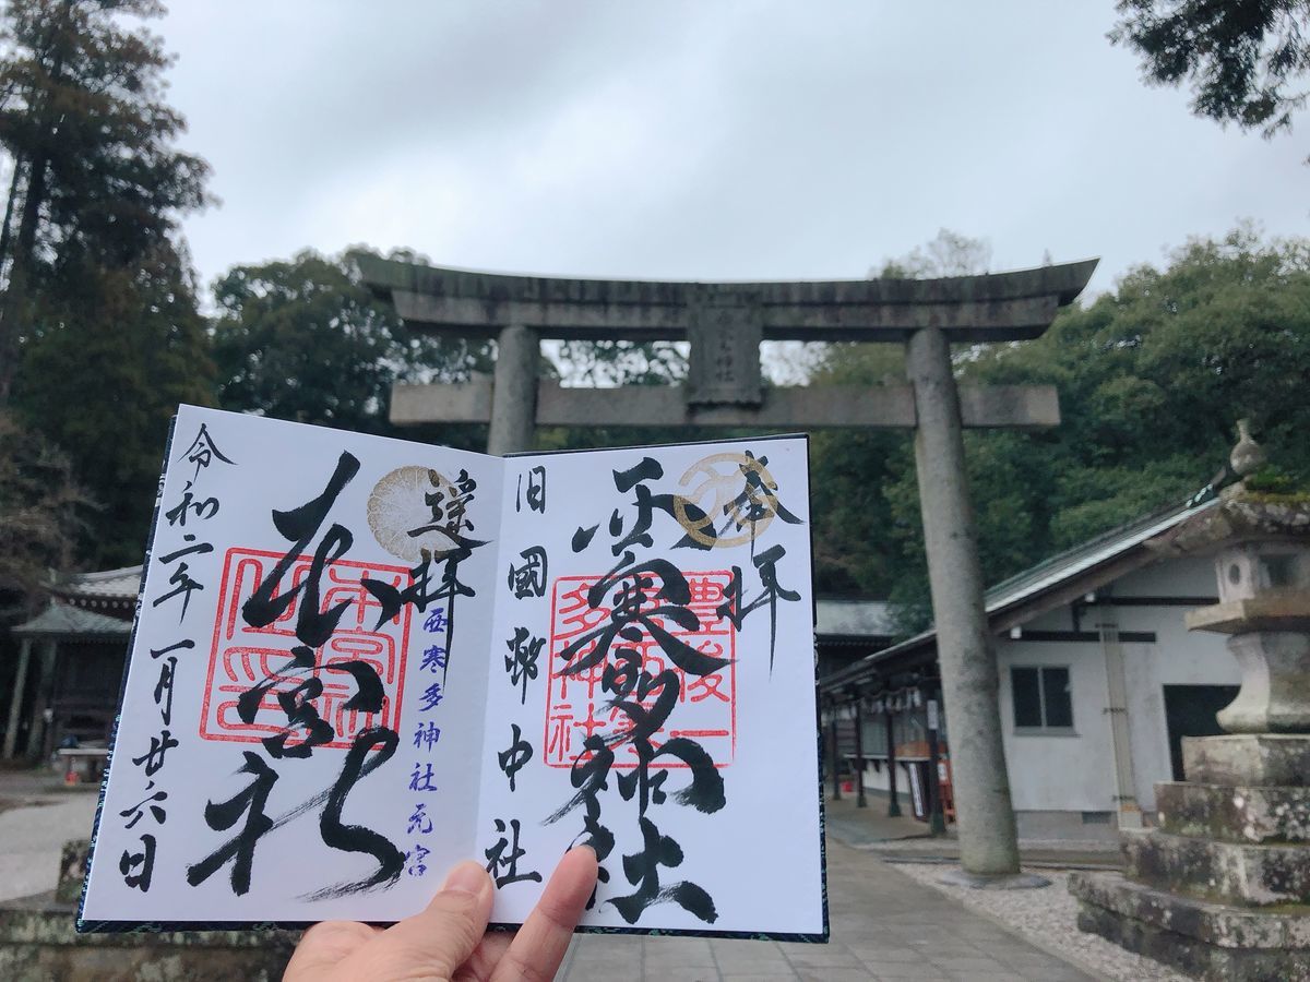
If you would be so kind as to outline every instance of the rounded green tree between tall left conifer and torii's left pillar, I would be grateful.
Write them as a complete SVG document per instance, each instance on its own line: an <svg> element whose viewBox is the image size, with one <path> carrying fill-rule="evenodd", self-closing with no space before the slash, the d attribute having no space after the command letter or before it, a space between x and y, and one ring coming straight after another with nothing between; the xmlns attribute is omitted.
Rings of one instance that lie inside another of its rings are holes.
<svg viewBox="0 0 1310 982"><path fill-rule="evenodd" d="M392 385L487 371L486 344L410 331L376 300L350 254L303 251L237 266L214 287L214 359L223 409L423 439L388 420ZM443 441L464 443L461 435Z"/></svg>

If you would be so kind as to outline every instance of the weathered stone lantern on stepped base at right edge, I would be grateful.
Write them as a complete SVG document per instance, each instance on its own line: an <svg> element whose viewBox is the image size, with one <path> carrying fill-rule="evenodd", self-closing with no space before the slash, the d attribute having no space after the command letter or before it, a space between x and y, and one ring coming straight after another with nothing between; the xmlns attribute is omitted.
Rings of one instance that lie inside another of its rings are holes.
<svg viewBox="0 0 1310 982"><path fill-rule="evenodd" d="M1234 469L1263 453L1242 427ZM1310 981L1310 496L1244 483L1154 546L1213 554L1242 670L1225 736L1184 737L1184 782L1155 786L1158 827L1125 831L1124 875L1076 873L1078 926L1197 978Z"/></svg>

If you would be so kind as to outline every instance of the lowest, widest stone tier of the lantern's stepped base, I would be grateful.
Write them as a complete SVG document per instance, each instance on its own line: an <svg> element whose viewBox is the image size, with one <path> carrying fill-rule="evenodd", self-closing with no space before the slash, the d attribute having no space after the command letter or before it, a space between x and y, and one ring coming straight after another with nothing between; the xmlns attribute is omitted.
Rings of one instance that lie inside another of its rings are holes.
<svg viewBox="0 0 1310 982"><path fill-rule="evenodd" d="M1310 982L1310 907L1269 913L1179 897L1119 873L1074 872L1078 927L1191 975Z"/></svg>

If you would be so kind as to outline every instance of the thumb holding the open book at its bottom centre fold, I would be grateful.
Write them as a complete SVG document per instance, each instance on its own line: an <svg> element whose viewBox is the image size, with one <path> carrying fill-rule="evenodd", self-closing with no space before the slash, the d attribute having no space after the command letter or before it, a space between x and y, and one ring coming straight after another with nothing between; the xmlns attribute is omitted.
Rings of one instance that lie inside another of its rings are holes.
<svg viewBox="0 0 1310 982"><path fill-rule="evenodd" d="M452 978L487 930L491 894L486 869L460 863L426 909L392 924L342 970L352 978Z"/></svg>

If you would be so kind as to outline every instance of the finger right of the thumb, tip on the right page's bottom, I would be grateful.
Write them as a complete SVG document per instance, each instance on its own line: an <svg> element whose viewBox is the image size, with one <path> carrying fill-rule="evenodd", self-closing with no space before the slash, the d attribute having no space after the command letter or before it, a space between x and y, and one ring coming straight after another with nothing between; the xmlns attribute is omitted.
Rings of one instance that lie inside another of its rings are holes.
<svg viewBox="0 0 1310 982"><path fill-rule="evenodd" d="M595 850L590 846L569 850L491 973L491 982L550 982L595 886Z"/></svg>

